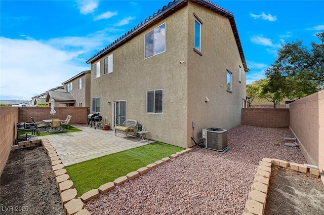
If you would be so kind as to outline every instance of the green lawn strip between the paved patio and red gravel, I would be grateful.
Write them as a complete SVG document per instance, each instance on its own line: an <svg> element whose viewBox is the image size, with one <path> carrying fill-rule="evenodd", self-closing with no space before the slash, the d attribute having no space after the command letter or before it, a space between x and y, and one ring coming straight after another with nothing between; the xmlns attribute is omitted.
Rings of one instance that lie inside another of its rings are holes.
<svg viewBox="0 0 324 215"><path fill-rule="evenodd" d="M106 155L82 163L66 166L78 195L126 176L131 171L154 163L184 148L155 142L134 149Z"/></svg>

